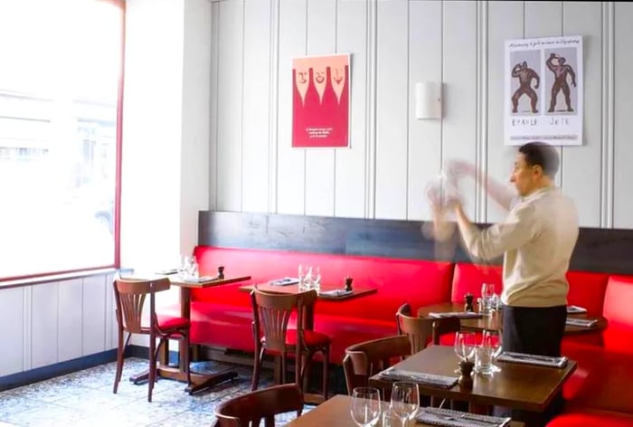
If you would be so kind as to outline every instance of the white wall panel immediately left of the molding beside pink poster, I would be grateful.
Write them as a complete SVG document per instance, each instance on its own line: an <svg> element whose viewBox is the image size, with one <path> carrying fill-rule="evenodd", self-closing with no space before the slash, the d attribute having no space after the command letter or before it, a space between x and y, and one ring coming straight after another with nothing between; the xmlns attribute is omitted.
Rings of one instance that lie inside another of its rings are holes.
<svg viewBox="0 0 633 427"><path fill-rule="evenodd" d="M241 204L249 212L267 212L269 205L271 13L268 1L244 5Z"/></svg>

